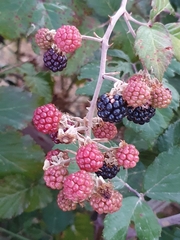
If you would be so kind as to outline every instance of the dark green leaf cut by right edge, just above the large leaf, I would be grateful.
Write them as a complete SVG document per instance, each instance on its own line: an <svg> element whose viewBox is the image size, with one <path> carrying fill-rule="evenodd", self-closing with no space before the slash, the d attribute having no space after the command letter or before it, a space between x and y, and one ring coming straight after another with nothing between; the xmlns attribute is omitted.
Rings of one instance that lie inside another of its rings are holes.
<svg viewBox="0 0 180 240"><path fill-rule="evenodd" d="M160 152L167 151L173 146L180 145L180 120L169 125L168 129L159 137L157 146Z"/></svg>

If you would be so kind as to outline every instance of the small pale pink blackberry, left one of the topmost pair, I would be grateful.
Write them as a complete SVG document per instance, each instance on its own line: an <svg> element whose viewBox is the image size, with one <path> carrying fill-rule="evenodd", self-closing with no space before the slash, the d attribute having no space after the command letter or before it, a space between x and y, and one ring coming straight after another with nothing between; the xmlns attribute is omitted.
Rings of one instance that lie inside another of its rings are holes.
<svg viewBox="0 0 180 240"><path fill-rule="evenodd" d="M54 30L50 31L48 28L40 28L35 35L35 41L37 45L41 49L47 50L51 48L55 33L56 32Z"/></svg>

